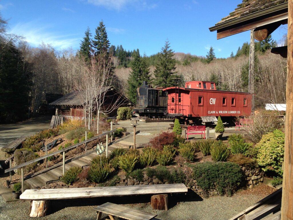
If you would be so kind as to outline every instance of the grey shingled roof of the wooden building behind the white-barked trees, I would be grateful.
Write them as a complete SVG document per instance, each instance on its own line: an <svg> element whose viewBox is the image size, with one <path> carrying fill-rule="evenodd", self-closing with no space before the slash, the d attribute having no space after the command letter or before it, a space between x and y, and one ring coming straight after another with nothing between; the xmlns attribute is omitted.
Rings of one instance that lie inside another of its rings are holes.
<svg viewBox="0 0 293 220"><path fill-rule="evenodd" d="M102 87L102 93L108 91L111 87ZM66 94L65 96L53 101L50 105L70 105L70 106L78 106L83 105L85 103L83 97L85 97L85 91L72 91Z"/></svg>

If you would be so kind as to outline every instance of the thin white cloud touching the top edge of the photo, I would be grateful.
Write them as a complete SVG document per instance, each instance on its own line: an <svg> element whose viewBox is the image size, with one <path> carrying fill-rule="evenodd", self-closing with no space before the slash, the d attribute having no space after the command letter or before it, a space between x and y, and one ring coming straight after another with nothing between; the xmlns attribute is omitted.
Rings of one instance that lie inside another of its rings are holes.
<svg viewBox="0 0 293 220"><path fill-rule="evenodd" d="M117 11L125 8L128 4L133 4L137 9L154 9L158 7L157 4L150 4L149 1L144 0L87 0L89 4L96 6L103 6L108 9L115 9Z"/></svg>

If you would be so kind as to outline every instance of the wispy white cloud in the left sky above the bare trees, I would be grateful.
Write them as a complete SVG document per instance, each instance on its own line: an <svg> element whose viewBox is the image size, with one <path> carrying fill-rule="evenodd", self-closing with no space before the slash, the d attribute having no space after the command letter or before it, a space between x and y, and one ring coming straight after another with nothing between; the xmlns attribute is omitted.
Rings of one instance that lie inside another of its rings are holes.
<svg viewBox="0 0 293 220"><path fill-rule="evenodd" d="M11 28L10 33L22 35L25 40L33 46L38 46L42 43L50 44L57 50L66 49L79 44L80 38L75 38L74 35L62 35L48 31L50 26L37 24L36 22L18 23Z"/></svg>

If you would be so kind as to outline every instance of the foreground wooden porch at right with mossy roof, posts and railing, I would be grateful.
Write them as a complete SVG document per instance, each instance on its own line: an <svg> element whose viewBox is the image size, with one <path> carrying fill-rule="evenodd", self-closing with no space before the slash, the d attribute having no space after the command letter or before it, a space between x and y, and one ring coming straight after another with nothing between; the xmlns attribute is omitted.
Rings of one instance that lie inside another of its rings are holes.
<svg viewBox="0 0 293 220"><path fill-rule="evenodd" d="M220 4L220 3L219 3ZM272 53L287 57L287 88L286 88L286 122L285 122L285 153L282 188L281 211L270 219L293 219L293 0L243 0L235 11L222 18L210 31L217 31L217 39L230 35L251 31L249 77L254 79L254 40L264 40L280 25L288 24L287 46L273 48ZM250 92L253 94L253 81L250 81ZM257 205L257 204L256 204ZM269 202L267 208L270 207ZM267 209L262 213L270 213ZM248 217L247 210L232 219L261 219L261 216Z"/></svg>

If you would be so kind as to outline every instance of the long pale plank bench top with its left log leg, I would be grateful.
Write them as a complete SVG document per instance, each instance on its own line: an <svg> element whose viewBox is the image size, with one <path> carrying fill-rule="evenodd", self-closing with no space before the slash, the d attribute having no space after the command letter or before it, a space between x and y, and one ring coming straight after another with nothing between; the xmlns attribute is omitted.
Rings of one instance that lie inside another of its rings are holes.
<svg viewBox="0 0 293 220"><path fill-rule="evenodd" d="M30 217L41 217L45 216L47 212L48 200L182 193L187 192L187 190L183 183L67 189L27 189L21 194L20 199L33 200L30 207Z"/></svg>

